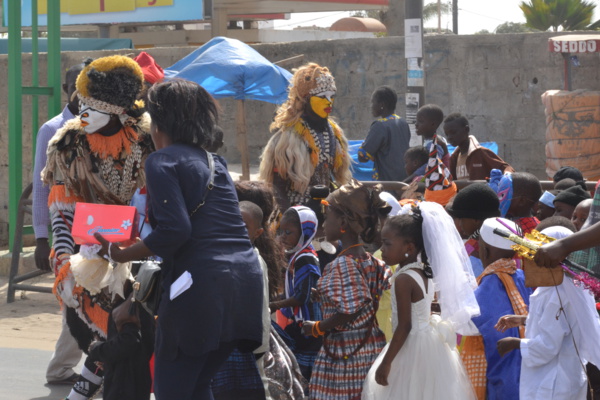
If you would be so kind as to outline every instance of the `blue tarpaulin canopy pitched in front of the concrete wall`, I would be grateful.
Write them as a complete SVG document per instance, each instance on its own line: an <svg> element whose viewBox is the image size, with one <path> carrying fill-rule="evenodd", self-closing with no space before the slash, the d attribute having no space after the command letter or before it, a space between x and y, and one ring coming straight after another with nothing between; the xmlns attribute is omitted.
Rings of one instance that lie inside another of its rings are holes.
<svg viewBox="0 0 600 400"><path fill-rule="evenodd" d="M281 104L292 77L236 39L216 37L165 70L165 78L194 81L213 97Z"/></svg>

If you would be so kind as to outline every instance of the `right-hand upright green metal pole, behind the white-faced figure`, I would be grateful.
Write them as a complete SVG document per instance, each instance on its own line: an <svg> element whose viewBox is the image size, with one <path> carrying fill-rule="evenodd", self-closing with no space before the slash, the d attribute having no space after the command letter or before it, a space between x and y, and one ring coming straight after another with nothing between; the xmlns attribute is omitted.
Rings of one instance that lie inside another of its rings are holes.
<svg viewBox="0 0 600 400"><path fill-rule="evenodd" d="M62 111L60 77L60 0L48 0L48 119Z"/></svg>

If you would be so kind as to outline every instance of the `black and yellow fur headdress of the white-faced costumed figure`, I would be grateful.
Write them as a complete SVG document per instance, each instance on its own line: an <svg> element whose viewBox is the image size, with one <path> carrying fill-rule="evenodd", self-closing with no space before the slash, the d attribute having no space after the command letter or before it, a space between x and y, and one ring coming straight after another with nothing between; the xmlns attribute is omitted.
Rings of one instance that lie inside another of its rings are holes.
<svg viewBox="0 0 600 400"><path fill-rule="evenodd" d="M86 65L77 77L77 96L97 110L125 114L135 104L144 83L140 66L129 57L102 57Z"/></svg>

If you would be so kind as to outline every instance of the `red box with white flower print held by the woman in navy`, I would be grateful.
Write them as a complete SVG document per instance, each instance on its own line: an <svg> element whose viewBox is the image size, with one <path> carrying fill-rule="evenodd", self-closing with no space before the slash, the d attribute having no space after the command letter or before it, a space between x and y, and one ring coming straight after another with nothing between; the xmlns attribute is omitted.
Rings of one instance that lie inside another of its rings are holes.
<svg viewBox="0 0 600 400"><path fill-rule="evenodd" d="M77 244L98 244L94 233L111 243L128 246L138 237L138 213L135 207L77 203L71 234Z"/></svg>

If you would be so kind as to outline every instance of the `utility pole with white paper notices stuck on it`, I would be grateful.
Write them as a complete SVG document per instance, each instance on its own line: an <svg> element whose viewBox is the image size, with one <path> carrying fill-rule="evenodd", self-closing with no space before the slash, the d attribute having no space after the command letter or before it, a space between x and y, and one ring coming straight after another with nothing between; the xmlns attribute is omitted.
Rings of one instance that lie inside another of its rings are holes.
<svg viewBox="0 0 600 400"><path fill-rule="evenodd" d="M423 62L423 0L406 0L404 53L406 58L406 121L411 131L411 146L420 145L415 132L417 110L425 104L425 65Z"/></svg>

